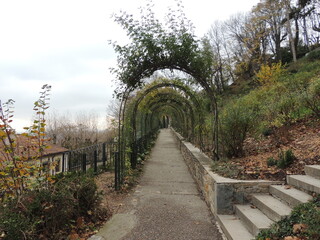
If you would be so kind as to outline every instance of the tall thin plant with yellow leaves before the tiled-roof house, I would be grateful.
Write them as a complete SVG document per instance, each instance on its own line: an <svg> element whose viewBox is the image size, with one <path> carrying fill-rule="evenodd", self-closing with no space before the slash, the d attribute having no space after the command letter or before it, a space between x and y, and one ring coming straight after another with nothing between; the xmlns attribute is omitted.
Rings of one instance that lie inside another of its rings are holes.
<svg viewBox="0 0 320 240"><path fill-rule="evenodd" d="M32 188L35 179L50 180L42 171L41 159L46 145L45 110L51 86L44 85L40 98L34 103L36 118L31 127L18 135L11 127L14 100L0 102L0 198L19 197ZM24 144L20 144L23 141Z"/></svg>

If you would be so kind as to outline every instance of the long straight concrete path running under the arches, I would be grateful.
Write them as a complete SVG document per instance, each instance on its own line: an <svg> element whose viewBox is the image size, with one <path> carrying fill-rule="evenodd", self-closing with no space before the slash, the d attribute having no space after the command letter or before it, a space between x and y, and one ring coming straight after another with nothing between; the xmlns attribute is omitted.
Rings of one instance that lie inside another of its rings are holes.
<svg viewBox="0 0 320 240"><path fill-rule="evenodd" d="M160 132L127 206L91 239L222 239L169 129Z"/></svg>

